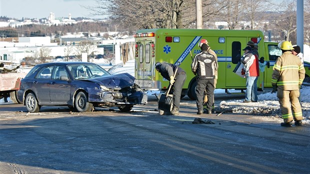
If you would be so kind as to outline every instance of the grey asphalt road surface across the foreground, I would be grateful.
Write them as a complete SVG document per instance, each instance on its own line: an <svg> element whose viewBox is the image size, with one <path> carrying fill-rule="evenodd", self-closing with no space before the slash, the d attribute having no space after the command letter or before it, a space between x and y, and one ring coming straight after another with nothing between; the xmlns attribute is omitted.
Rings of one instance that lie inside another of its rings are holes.
<svg viewBox="0 0 310 174"><path fill-rule="evenodd" d="M236 96L238 97L238 96ZM0 104L0 173L308 173L310 126L249 114L158 115L155 100L70 112ZM192 124L195 117L214 124Z"/></svg>

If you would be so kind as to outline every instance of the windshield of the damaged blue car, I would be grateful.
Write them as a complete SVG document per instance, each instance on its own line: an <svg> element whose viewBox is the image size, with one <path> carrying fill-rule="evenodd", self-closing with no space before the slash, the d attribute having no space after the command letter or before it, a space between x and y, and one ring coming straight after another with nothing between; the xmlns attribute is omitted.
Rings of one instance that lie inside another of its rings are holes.
<svg viewBox="0 0 310 174"><path fill-rule="evenodd" d="M97 64L70 64L67 67L75 79L88 79L109 75L106 70Z"/></svg>

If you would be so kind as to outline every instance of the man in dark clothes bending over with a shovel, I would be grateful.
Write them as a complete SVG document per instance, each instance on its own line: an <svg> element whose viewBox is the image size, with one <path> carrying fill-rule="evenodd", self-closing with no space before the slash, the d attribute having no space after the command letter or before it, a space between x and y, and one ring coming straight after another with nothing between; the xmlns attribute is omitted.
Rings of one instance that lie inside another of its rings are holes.
<svg viewBox="0 0 310 174"><path fill-rule="evenodd" d="M185 71L178 67L175 77L173 78L173 74L176 70L176 66L171 63L156 62L155 64L156 70L162 75L163 78L170 81L171 88L173 88L173 108L171 110L172 115L178 115L179 107L180 107L180 99L182 88L186 79Z"/></svg>

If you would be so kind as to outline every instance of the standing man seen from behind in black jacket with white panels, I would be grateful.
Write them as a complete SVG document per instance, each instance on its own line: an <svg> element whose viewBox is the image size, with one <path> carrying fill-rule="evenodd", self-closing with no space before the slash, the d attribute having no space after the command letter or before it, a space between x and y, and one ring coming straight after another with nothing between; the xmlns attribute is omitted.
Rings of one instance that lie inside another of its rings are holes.
<svg viewBox="0 0 310 174"><path fill-rule="evenodd" d="M207 113L210 114L212 110L212 103L214 100L214 78L215 71L217 70L216 57L208 52L209 46L202 43L200 46L201 52L196 54L191 63L191 70L196 74L197 87L196 87L196 105L197 114L201 114L203 110L203 92L206 90Z"/></svg>

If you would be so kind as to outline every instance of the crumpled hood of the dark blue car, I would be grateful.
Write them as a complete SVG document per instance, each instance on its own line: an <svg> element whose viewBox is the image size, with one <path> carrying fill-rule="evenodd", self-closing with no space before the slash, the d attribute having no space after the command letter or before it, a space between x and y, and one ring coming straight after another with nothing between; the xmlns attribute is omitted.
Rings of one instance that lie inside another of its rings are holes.
<svg viewBox="0 0 310 174"><path fill-rule="evenodd" d="M134 77L129 73L111 74L96 78L89 78L88 81L104 85L109 89L119 90L124 87L132 86L134 84Z"/></svg>

